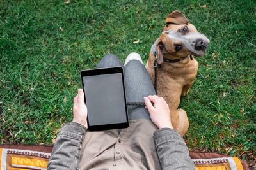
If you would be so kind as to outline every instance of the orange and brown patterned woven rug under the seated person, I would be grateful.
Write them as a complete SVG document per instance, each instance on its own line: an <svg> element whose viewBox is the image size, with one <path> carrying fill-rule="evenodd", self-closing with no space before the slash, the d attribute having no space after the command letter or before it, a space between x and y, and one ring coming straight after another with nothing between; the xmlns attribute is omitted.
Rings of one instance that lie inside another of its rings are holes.
<svg viewBox="0 0 256 170"><path fill-rule="evenodd" d="M52 146L0 145L0 167L5 169L47 169ZM189 155L198 170L256 169L237 157L215 153L190 151Z"/></svg>

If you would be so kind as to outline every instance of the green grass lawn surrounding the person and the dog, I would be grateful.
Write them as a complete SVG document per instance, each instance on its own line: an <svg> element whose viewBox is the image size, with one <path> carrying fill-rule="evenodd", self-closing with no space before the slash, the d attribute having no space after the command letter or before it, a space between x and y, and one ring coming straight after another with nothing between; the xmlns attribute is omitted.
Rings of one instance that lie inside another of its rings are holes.
<svg viewBox="0 0 256 170"><path fill-rule="evenodd" d="M80 71L108 52L146 63L179 10L211 40L180 103L188 147L256 161L256 1L70 1L0 1L0 143L51 144L72 120Z"/></svg>

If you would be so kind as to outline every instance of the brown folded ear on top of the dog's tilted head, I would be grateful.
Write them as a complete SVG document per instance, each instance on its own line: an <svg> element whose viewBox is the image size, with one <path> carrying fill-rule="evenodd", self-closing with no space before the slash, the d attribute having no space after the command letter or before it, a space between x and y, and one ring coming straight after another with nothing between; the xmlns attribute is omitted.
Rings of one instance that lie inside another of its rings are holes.
<svg viewBox="0 0 256 170"><path fill-rule="evenodd" d="M189 20L178 10L173 11L165 20L165 25L168 24L187 24Z"/></svg>

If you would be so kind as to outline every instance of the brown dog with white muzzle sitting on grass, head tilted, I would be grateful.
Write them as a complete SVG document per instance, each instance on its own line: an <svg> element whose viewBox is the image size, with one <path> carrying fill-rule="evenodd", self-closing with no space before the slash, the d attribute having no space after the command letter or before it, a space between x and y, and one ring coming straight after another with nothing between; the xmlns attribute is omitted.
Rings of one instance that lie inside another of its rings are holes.
<svg viewBox="0 0 256 170"><path fill-rule="evenodd" d="M188 94L196 78L198 62L192 55L204 55L209 43L209 39L176 10L166 18L163 32L150 50L147 71L154 83L156 60L157 95L166 100L173 128L182 136L188 131L189 122L186 111L177 110L180 96Z"/></svg>

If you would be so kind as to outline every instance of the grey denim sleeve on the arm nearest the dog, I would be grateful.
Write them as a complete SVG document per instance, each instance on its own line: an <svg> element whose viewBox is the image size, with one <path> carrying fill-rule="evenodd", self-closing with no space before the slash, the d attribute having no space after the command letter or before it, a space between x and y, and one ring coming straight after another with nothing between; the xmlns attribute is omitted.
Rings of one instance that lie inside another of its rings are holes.
<svg viewBox="0 0 256 170"><path fill-rule="evenodd" d="M170 128L154 132L157 155L162 169L195 169L182 136Z"/></svg>

